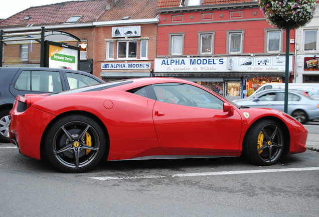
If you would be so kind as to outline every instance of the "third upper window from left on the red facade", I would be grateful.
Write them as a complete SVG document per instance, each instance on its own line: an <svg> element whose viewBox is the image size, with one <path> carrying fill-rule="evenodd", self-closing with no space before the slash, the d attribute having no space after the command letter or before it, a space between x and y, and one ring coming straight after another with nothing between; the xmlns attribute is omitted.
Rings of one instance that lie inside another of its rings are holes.
<svg viewBox="0 0 319 217"><path fill-rule="evenodd" d="M227 31L227 51L229 54L243 53L244 30Z"/></svg>

